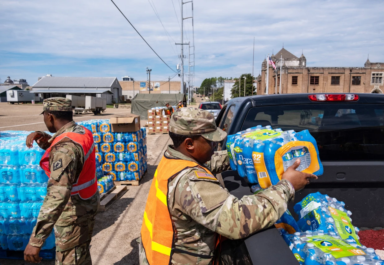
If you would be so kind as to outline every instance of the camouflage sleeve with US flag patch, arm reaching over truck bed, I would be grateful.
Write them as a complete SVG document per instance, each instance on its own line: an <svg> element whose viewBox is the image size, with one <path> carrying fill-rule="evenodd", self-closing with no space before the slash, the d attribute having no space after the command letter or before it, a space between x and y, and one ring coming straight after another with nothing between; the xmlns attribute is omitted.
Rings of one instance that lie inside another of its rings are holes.
<svg viewBox="0 0 384 265"><path fill-rule="evenodd" d="M218 180L198 178L196 172L199 170L194 168L181 173L175 185L174 209L230 239L245 238L273 225L295 194L292 185L281 180L257 195L238 199Z"/></svg>

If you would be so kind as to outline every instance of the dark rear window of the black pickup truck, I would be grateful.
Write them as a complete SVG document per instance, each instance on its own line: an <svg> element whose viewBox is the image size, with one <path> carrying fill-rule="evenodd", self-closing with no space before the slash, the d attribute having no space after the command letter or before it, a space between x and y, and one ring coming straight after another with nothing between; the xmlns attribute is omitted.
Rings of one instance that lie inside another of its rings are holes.
<svg viewBox="0 0 384 265"><path fill-rule="evenodd" d="M271 125L309 130L323 161L384 161L384 105L308 104L250 109L242 130Z"/></svg>

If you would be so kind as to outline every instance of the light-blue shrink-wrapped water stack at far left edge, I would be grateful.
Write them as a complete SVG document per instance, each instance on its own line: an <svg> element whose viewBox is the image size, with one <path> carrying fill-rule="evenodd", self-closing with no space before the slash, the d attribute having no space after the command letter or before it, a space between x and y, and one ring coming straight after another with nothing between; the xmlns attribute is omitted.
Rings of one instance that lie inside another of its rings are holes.
<svg viewBox="0 0 384 265"><path fill-rule="evenodd" d="M0 243L3 250L24 250L46 196L48 177L39 162L44 150L27 148L31 132L5 131L0 137ZM55 247L52 232L42 249Z"/></svg>

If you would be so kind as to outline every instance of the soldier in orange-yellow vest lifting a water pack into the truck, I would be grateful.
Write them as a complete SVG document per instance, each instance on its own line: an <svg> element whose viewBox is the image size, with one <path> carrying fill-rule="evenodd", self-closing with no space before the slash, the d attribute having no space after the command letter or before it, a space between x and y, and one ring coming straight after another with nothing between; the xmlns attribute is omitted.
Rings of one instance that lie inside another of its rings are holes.
<svg viewBox="0 0 384 265"><path fill-rule="evenodd" d="M298 159L276 185L238 199L214 175L229 168L229 157L226 150L214 152L227 133L216 127L212 113L177 109L169 136L173 145L157 166L144 211L141 265L211 265L220 254L215 251L220 235L240 239L270 227L287 210L295 190L317 178L296 171Z"/></svg>

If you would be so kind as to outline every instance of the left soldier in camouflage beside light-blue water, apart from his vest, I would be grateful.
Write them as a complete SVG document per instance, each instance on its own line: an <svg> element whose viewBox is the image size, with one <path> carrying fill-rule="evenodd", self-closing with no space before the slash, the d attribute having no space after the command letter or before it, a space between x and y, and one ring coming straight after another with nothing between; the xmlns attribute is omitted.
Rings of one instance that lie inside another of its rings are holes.
<svg viewBox="0 0 384 265"><path fill-rule="evenodd" d="M33 141L46 150L61 133L78 132L84 134L84 128L72 118L71 100L68 98L45 99L43 107L44 122L52 137L45 132L33 132L26 139L27 147ZM59 163L57 163L60 161ZM35 228L27 245L24 258L29 262L40 262L38 253L46 238L55 231L56 264L91 265L89 244L91 243L95 216L100 204L99 192L89 199L72 195L73 183L76 183L84 165L83 148L69 138L63 138L49 155L50 178L47 194L41 206Z"/></svg>

